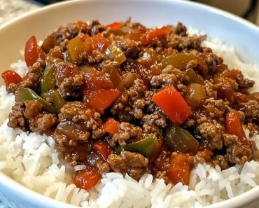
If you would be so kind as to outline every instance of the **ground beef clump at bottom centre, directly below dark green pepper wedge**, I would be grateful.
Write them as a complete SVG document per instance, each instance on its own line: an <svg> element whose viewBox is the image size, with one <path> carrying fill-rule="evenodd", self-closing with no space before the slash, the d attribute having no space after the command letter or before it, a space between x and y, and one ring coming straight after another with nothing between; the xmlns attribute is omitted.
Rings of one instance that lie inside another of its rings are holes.
<svg viewBox="0 0 259 208"><path fill-rule="evenodd" d="M133 179L140 179L148 170L148 159L139 153L123 151L120 155L111 154L107 160L114 172L129 174Z"/></svg>

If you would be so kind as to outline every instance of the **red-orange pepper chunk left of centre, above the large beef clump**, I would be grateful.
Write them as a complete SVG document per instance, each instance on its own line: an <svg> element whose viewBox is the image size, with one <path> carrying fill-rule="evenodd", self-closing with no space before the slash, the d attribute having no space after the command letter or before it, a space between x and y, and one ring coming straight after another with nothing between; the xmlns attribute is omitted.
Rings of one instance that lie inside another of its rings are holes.
<svg viewBox="0 0 259 208"><path fill-rule="evenodd" d="M120 96L120 91L117 89L111 90L99 90L95 95L92 95L88 99L90 106L99 113L102 113Z"/></svg>

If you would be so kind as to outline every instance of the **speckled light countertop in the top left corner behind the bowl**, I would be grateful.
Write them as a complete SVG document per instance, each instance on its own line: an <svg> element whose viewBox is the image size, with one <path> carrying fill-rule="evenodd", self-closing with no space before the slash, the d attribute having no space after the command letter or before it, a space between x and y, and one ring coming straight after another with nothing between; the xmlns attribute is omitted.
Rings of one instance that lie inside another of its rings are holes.
<svg viewBox="0 0 259 208"><path fill-rule="evenodd" d="M0 25L41 6L43 4L36 1L0 0Z"/></svg>

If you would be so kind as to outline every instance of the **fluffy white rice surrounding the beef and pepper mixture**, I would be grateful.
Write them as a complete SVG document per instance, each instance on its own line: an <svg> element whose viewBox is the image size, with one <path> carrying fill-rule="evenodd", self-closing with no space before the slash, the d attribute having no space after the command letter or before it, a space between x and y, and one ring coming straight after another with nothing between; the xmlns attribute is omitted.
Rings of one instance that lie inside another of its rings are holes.
<svg viewBox="0 0 259 208"><path fill-rule="evenodd" d="M189 29L190 34L197 34ZM241 69L247 78L259 75L259 67L244 64L232 46L217 39L205 41L204 46L224 58L230 68ZM24 62L12 64L24 75ZM254 91L259 91L259 82ZM259 162L246 162L243 167L229 169L200 164L191 172L190 185L166 185L162 179L145 174L139 181L119 173L104 174L103 179L90 191L79 190L71 182L71 167L60 161L52 137L13 130L7 126L8 113L14 96L0 87L0 171L15 181L55 200L82 207L203 207L235 197L259 185ZM248 130L246 134L248 135ZM259 135L251 138L259 148ZM62 165L64 164L64 165ZM82 169L78 165L76 169Z"/></svg>

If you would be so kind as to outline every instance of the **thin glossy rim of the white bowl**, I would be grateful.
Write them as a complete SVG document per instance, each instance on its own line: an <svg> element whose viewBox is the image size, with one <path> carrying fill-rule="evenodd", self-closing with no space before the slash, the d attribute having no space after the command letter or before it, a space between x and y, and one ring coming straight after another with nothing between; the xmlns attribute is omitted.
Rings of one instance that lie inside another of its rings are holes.
<svg viewBox="0 0 259 208"><path fill-rule="evenodd" d="M9 20L8 22L3 23L2 25L0 25L0 31L3 29L8 29L8 27L12 27L13 23L15 22L20 22L22 20L24 20L25 18L31 18L34 15L38 15L41 13L44 13L45 11L49 11L49 10L56 10L59 7L62 6L69 6L71 4L81 4L81 3L85 3L87 4L87 2L91 2L91 1L110 1L110 0L69 0L69 1L62 1L62 2L57 2L55 4L50 4L48 6L43 6L40 8L36 8L33 11L29 11L25 14L22 14L16 18L13 18L12 20ZM122 0L111 0L111 1L116 1L116 2L120 2ZM129 2L148 2L148 3L152 3L152 2L160 2L165 3L165 2L174 2L177 4L183 4L186 6L195 6L197 8L202 8L204 10L207 10L211 13L216 13L218 15L223 15L225 18L228 18L230 20L233 20L241 25L243 25L244 27L248 27L250 29L253 29L255 32L258 33L259 36L259 27L255 24L253 24L252 22L249 22L248 20L245 20L243 18L240 18L237 15L234 15L228 11L223 11L220 8L214 8L213 6L209 6L209 5L205 5L202 4L200 2L194 2L194 1L183 1L183 0L125 0L125 1L129 1ZM67 204L65 202L59 202L57 200L54 200L50 197L46 197L45 195L41 194L41 193L37 193L34 190L31 190L29 188L27 188L26 186L23 186L21 183L18 183L18 181L15 181L14 179L11 179L9 176L7 176L6 174L3 174L3 172L0 171L0 181L1 183L12 189L15 190L17 193L22 193L26 190L26 192L28 193L28 195L30 195L31 197L33 197L34 199L36 199L38 202L43 203L45 205L49 205L49 206L57 206L57 207L64 207L64 208L76 208L77 206L72 205L72 204ZM240 201L242 202L241 204L246 204L248 202L252 202L253 200L258 198L258 193L259 193L259 186L255 186L254 188L251 188L251 190L247 190L245 193L241 193L240 195L237 195L235 197L232 197L228 200L224 200L222 202L217 202L216 204L210 204L207 205L207 208L218 208L218 207L232 207L233 204L236 203L236 201Z"/></svg>

